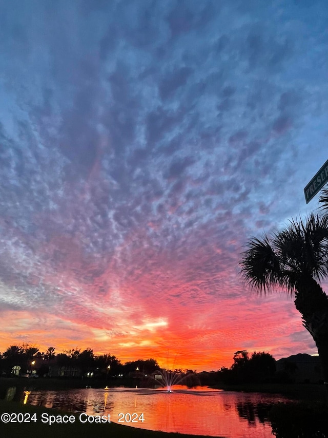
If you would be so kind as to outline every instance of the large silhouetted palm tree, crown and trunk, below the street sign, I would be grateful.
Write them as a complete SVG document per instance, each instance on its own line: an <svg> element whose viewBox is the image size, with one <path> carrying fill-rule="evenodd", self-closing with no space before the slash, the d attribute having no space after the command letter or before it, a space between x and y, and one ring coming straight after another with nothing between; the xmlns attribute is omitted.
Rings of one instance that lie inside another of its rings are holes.
<svg viewBox="0 0 328 438"><path fill-rule="evenodd" d="M311 214L306 221L292 220L270 239L265 234L252 238L240 264L243 278L257 292L282 287L295 296L328 382L328 296L319 284L328 274L328 216Z"/></svg>

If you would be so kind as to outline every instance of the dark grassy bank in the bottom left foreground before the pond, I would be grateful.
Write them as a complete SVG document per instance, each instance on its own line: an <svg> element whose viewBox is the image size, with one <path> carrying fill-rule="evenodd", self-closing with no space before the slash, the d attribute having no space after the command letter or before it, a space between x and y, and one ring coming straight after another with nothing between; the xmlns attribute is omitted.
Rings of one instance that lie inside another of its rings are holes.
<svg viewBox="0 0 328 438"><path fill-rule="evenodd" d="M115 423L95 424L81 423L78 414L67 413L74 415L74 423L49 425L42 423L41 415L59 415L63 417L66 413L55 409L46 409L29 405L22 405L14 402L6 402L0 400L0 413L23 413L36 414L36 423L11 423L4 424L0 422L1 438L22 438L22 436L46 436L47 438L85 438L96 436L97 438L195 438L195 435L185 435L180 433L165 433L155 432L151 430L133 428ZM200 435L199 435L200 436ZM203 435L202 435L203 436Z"/></svg>

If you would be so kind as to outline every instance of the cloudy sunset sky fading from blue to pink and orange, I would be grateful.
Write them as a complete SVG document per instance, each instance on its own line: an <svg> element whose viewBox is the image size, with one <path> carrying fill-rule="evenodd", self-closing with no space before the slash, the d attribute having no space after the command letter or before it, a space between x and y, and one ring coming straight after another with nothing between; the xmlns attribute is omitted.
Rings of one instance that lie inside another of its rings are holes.
<svg viewBox="0 0 328 438"><path fill-rule="evenodd" d="M0 351L317 352L238 263L318 207L327 23L326 0L0 0Z"/></svg>

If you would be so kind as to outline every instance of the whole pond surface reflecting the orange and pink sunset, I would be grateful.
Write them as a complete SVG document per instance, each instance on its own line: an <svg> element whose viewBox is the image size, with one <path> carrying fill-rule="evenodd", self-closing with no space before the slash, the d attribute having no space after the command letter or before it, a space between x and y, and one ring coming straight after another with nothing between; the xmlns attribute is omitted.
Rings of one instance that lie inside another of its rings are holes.
<svg viewBox="0 0 328 438"><path fill-rule="evenodd" d="M7 390L6 398L47 408L88 415L110 414L118 422L119 414L144 413L145 421L130 426L166 432L227 436L229 438L271 438L268 412L284 397L269 394L245 394L198 387L174 387L164 390L109 388L70 389L66 391ZM130 421L128 415L127 421ZM127 423L125 423L127 424Z"/></svg>

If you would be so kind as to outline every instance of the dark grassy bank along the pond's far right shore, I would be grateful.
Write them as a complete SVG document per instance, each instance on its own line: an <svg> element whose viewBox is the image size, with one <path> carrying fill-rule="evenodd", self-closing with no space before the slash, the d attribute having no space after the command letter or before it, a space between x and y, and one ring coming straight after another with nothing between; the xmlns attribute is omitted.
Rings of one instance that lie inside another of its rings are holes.
<svg viewBox="0 0 328 438"><path fill-rule="evenodd" d="M316 384L243 384L243 385L216 385L216 389L225 391L262 392L281 394L295 400L325 401L324 385Z"/></svg>

